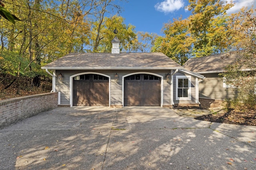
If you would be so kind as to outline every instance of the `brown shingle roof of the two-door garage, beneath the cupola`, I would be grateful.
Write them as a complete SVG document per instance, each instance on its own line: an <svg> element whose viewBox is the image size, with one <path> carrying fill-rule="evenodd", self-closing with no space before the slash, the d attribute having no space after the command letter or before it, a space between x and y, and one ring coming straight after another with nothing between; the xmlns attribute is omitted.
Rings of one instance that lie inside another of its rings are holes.
<svg viewBox="0 0 256 170"><path fill-rule="evenodd" d="M163 53L70 53L43 69L177 69L183 68Z"/></svg>

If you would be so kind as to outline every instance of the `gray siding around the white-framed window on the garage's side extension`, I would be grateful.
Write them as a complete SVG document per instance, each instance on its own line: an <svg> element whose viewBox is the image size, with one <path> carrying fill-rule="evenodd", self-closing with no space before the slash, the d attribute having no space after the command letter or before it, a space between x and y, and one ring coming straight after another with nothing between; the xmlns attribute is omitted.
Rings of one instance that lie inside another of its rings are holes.
<svg viewBox="0 0 256 170"><path fill-rule="evenodd" d="M173 76L173 99L174 104L194 104L196 103L196 78L191 76L191 100L176 100L176 76L190 76L181 72L177 72Z"/></svg>

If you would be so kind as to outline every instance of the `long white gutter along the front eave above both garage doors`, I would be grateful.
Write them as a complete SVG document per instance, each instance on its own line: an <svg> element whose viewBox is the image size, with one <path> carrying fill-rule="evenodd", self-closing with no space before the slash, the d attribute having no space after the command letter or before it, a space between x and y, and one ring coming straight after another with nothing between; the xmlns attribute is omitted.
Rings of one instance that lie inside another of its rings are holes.
<svg viewBox="0 0 256 170"><path fill-rule="evenodd" d="M41 67L49 70L172 70L183 67Z"/></svg>

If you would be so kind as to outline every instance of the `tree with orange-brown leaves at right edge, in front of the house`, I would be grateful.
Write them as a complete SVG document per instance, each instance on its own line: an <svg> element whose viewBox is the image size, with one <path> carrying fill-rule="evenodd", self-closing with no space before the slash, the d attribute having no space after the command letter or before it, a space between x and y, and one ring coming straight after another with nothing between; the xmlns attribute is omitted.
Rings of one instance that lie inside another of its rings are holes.
<svg viewBox="0 0 256 170"><path fill-rule="evenodd" d="M229 23L230 42L240 57L220 74L227 78L226 83L238 91L232 100L237 109L256 109L256 10L242 8L231 15Z"/></svg>

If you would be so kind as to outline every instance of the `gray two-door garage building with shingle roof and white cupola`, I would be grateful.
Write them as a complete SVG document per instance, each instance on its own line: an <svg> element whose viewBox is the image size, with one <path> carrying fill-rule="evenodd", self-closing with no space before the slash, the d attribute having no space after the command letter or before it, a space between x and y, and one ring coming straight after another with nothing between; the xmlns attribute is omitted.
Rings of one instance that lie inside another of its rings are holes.
<svg viewBox="0 0 256 170"><path fill-rule="evenodd" d="M42 67L52 75L60 105L199 105L198 83L204 76L163 53L120 53L119 42L112 40L112 53L71 53Z"/></svg>

